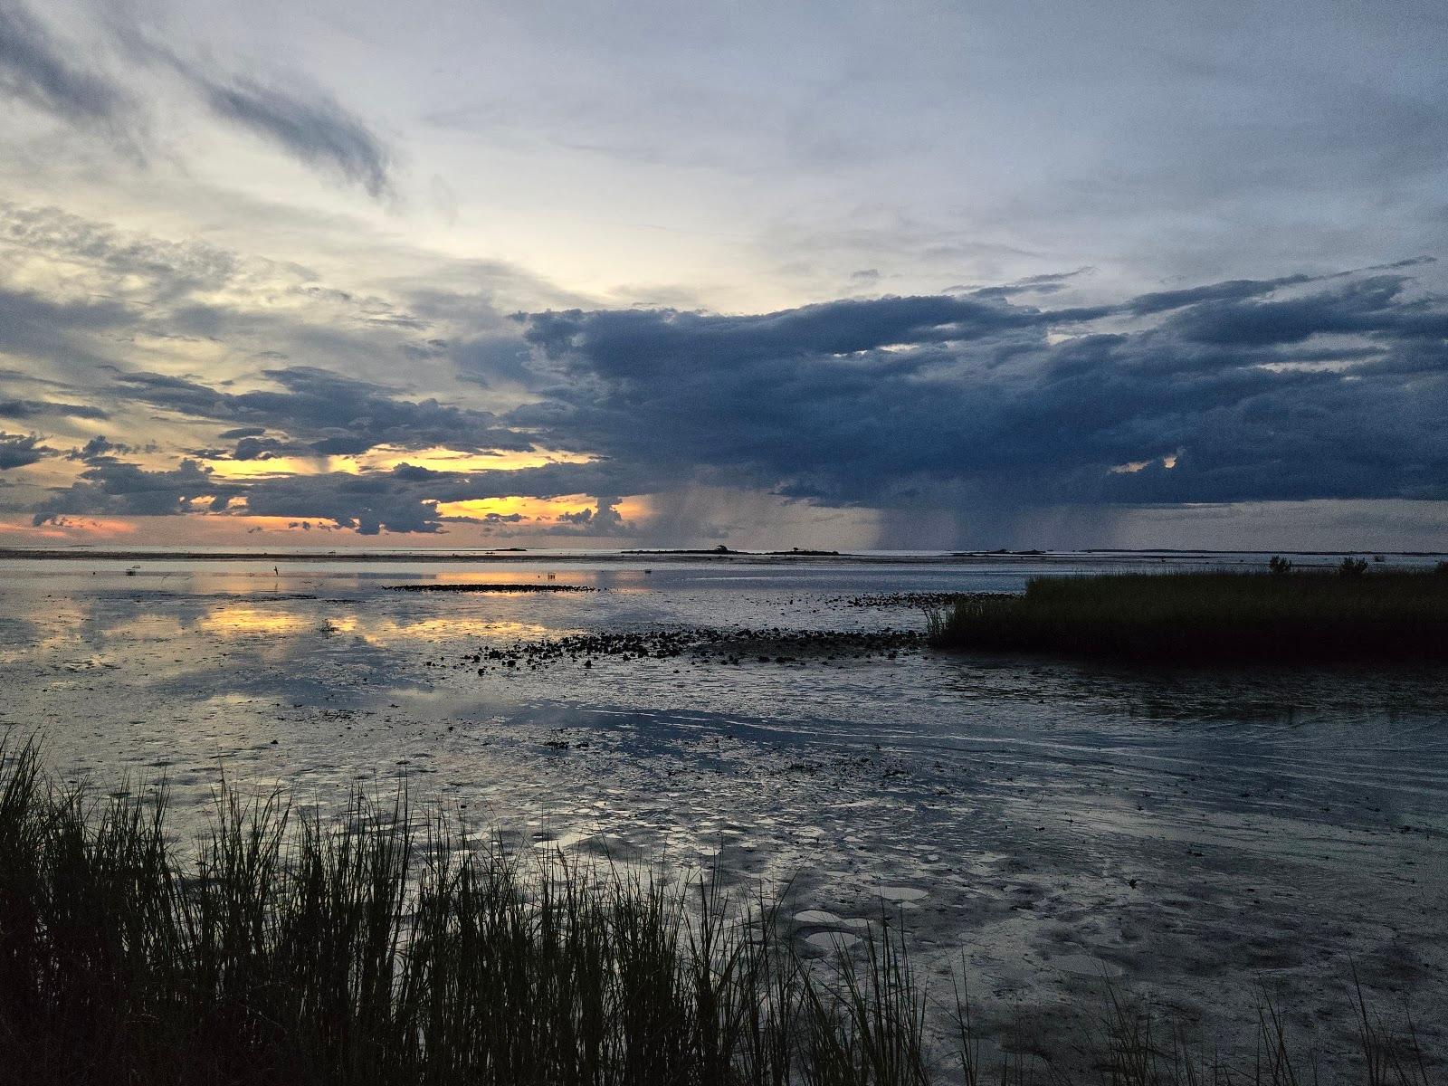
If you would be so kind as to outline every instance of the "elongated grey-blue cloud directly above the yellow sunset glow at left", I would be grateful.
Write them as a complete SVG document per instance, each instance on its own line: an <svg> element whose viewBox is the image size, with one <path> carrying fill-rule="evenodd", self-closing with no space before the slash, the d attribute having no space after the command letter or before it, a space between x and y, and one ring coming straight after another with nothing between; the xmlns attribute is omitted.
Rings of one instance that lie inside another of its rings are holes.
<svg viewBox="0 0 1448 1086"><path fill-rule="evenodd" d="M403 400L382 385L314 366L265 369L262 375L279 388L226 392L185 378L120 372L114 392L184 416L242 423L227 432L245 432L236 459L256 459L261 453L358 455L379 445L446 445L466 452L531 447L526 436L501 427L488 411L437 400ZM261 437L266 430L281 430L291 440Z"/></svg>

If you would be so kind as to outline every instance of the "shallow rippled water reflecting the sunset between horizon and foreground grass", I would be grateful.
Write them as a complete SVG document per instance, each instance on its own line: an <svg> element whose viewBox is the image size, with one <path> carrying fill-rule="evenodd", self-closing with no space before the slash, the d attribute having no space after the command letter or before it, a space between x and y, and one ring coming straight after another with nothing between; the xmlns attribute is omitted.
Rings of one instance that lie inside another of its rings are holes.
<svg viewBox="0 0 1448 1086"><path fill-rule="evenodd" d="M572 633L921 628L850 601L1222 560L10 560L0 724L43 731L67 779L164 775L181 814L222 770L320 804L405 773L524 847L718 854L740 886L789 880L808 947L883 905L930 970L963 950L972 993L1016 1008L998 1025L1119 977L1212 1035L1266 988L1331 1051L1355 964L1448 1051L1444 669L463 659ZM384 591L426 581L604 591Z"/></svg>

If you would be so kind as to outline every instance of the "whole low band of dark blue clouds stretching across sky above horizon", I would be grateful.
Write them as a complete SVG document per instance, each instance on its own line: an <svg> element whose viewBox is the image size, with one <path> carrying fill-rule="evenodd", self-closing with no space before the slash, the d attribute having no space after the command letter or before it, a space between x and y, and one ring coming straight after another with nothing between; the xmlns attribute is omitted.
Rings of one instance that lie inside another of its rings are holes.
<svg viewBox="0 0 1448 1086"><path fill-rule="evenodd" d="M94 405L16 397L0 411L146 410L216 442L178 449L174 466L87 446L78 476L26 510L38 523L246 513L363 534L459 521L507 531L526 518L458 504L595 495L527 529L615 536L647 531L618 514L620 495L734 488L877 510L892 539L922 513L944 515L966 544L1044 507L1448 500L1448 300L1420 290L1410 264L1090 306L1048 304L1060 277L1047 279L752 316L520 313L514 346L492 355L502 371L479 372L475 352L453 358L484 388L526 387L500 410L311 365L256 369L245 391L110 365ZM74 323L84 333L93 317L77 310ZM411 340L400 342L405 355ZM446 363L447 342L432 342ZM378 449L572 456L487 471L339 471L332 459ZM0 450L13 475L46 456L33 434ZM285 458L314 469L226 469Z"/></svg>

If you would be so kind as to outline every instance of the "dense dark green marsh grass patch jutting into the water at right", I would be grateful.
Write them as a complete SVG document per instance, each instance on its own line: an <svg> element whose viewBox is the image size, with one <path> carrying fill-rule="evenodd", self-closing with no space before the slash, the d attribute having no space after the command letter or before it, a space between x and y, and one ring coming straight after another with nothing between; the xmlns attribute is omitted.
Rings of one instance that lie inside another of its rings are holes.
<svg viewBox="0 0 1448 1086"><path fill-rule="evenodd" d="M943 649L1197 660L1448 660L1448 576L1365 572L1035 578L930 617Z"/></svg>

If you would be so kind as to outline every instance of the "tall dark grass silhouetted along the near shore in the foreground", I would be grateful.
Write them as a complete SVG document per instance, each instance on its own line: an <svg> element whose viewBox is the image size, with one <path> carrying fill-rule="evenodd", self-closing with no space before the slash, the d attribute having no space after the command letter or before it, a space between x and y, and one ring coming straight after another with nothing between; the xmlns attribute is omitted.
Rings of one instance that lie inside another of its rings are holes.
<svg viewBox="0 0 1448 1086"><path fill-rule="evenodd" d="M935 1051L889 927L856 957L805 961L767 904L737 911L704 880L559 856L526 864L443 820L418 827L405 796L358 794L329 820L222 791L181 860L164 799L58 789L33 746L3 772L9 1082L1072 1082L1009 1057L986 1067L959 998ZM1361 1024L1354 1082L1426 1086L1416 1044L1365 1006ZM1257 1025L1245 1069L1195 1060L1112 995L1089 1080L1309 1082L1277 1015Z"/></svg>

